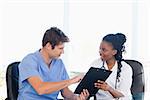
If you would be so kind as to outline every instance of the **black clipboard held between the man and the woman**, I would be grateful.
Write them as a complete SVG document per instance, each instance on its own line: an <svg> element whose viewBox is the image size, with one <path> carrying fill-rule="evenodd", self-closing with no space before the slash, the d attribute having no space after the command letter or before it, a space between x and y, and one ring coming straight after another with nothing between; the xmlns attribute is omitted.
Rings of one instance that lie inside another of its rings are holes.
<svg viewBox="0 0 150 100"><path fill-rule="evenodd" d="M91 67L75 89L74 93L80 94L83 89L87 89L90 96L94 96L99 90L95 87L94 83L96 83L97 80L105 81L111 73L112 71L110 70Z"/></svg>

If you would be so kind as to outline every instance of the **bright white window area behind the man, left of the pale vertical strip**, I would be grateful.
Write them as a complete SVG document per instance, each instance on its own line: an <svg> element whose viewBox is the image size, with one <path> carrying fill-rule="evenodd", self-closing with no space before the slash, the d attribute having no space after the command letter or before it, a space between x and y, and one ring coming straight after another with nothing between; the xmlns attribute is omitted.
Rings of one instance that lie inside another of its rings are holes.
<svg viewBox="0 0 150 100"><path fill-rule="evenodd" d="M63 28L64 3L7 0L2 11L2 65L21 60L41 48L51 26Z"/></svg>

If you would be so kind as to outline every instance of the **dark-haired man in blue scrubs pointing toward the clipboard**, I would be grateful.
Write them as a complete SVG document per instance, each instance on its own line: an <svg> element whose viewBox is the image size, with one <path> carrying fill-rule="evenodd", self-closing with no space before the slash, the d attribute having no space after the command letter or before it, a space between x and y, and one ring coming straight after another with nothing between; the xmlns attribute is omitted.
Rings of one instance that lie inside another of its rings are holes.
<svg viewBox="0 0 150 100"><path fill-rule="evenodd" d="M68 86L82 77L69 79L60 55L68 37L58 28L52 27L43 36L42 48L27 55L19 65L18 100L58 100L61 92L67 100L86 100L85 89L80 95L73 94Z"/></svg>

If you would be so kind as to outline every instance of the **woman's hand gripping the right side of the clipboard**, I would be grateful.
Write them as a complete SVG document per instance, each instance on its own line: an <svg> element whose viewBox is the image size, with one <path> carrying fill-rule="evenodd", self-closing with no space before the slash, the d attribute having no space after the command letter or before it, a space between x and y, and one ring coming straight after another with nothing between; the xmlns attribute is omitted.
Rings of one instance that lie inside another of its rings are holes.
<svg viewBox="0 0 150 100"><path fill-rule="evenodd" d="M97 83L95 83L95 87L104 91L109 91L111 89L111 87L106 82L100 80L98 80Z"/></svg>

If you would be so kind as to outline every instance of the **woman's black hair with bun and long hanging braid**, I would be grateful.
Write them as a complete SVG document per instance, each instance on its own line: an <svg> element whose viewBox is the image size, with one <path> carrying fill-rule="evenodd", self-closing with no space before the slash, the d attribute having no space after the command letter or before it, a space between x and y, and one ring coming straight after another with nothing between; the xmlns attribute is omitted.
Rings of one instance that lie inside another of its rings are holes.
<svg viewBox="0 0 150 100"><path fill-rule="evenodd" d="M113 48L117 50L117 53L115 54L115 59L118 63L117 80L119 81L122 68L122 52L125 51L124 43L126 42L126 36L122 33L108 34L102 40L111 43Z"/></svg>

